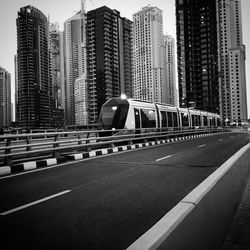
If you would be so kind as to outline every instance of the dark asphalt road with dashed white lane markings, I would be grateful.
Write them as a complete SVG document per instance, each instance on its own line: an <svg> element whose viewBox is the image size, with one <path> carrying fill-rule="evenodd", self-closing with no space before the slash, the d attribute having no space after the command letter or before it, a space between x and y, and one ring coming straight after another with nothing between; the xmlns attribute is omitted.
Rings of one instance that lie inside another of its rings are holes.
<svg viewBox="0 0 250 250"><path fill-rule="evenodd" d="M124 249L249 142L220 134L0 179L7 249Z"/></svg>

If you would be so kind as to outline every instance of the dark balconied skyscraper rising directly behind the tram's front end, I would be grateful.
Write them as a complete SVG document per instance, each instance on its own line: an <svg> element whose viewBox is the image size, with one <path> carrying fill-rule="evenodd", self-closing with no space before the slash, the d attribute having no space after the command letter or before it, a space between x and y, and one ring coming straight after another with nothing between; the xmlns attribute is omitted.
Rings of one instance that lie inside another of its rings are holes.
<svg viewBox="0 0 250 250"><path fill-rule="evenodd" d="M87 13L89 122L111 97L131 95L131 21L106 6Z"/></svg>

